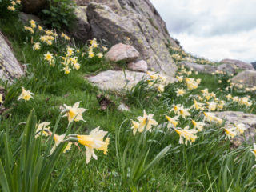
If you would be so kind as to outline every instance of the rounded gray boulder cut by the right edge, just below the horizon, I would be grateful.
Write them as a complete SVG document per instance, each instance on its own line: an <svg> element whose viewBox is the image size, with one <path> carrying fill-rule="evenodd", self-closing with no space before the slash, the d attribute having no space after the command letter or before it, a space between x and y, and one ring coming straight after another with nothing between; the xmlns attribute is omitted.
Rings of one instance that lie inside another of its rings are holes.
<svg viewBox="0 0 256 192"><path fill-rule="evenodd" d="M232 78L232 82L242 83L245 86L256 86L256 71L244 70Z"/></svg>

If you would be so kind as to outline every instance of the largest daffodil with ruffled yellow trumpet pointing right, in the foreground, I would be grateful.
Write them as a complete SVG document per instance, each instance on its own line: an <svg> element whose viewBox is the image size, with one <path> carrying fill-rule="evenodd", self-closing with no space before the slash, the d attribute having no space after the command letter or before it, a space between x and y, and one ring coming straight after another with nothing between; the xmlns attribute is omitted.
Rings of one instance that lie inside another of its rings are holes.
<svg viewBox="0 0 256 192"><path fill-rule="evenodd" d="M78 143L86 146L86 163L90 162L90 158L93 157L97 160L97 156L94 153L95 150L102 150L104 154L107 154L107 146L110 143L110 138L103 138L106 136L107 131L99 130L99 127L90 131L89 135L77 135Z"/></svg>

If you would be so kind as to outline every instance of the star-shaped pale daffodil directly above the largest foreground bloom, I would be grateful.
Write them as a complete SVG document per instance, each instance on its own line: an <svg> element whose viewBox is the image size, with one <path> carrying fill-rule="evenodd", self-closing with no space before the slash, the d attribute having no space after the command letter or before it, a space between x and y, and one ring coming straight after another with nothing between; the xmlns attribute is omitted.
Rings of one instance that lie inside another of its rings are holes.
<svg viewBox="0 0 256 192"><path fill-rule="evenodd" d="M68 110L66 112L66 114L64 114L62 117L67 117L69 124L73 121L75 122L79 122L80 120L83 122L86 122L83 118L82 118L82 113L86 111L86 109L83 108L78 108L79 107L80 102L76 102L74 103L73 106L65 106L65 110Z"/></svg>

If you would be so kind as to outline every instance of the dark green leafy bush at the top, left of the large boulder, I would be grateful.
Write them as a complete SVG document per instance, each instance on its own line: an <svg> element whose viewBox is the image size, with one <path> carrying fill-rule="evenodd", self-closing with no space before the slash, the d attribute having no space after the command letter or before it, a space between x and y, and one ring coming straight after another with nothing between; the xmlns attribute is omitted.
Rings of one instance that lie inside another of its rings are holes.
<svg viewBox="0 0 256 192"><path fill-rule="evenodd" d="M49 0L48 8L40 13L42 23L52 29L69 29L75 19L75 6L74 0Z"/></svg>

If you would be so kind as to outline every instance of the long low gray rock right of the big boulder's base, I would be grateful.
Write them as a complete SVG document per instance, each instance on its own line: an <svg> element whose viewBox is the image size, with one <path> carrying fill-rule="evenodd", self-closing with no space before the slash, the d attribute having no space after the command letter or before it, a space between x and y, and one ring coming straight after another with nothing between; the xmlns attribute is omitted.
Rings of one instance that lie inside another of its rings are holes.
<svg viewBox="0 0 256 192"><path fill-rule="evenodd" d="M229 74L234 74L234 72L236 71L236 67L232 66L230 64L222 64L219 66L210 66L207 64L201 65L198 63L194 63L194 62L180 62L180 64L186 66L189 69L192 68L195 71L198 71L200 73L205 73L205 74L212 74L212 73L216 72L217 70L222 70Z"/></svg>

